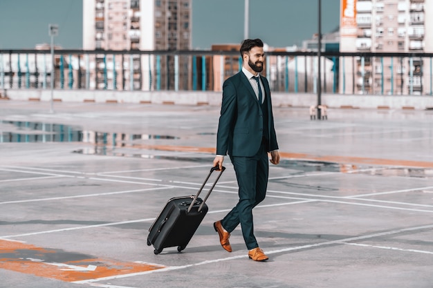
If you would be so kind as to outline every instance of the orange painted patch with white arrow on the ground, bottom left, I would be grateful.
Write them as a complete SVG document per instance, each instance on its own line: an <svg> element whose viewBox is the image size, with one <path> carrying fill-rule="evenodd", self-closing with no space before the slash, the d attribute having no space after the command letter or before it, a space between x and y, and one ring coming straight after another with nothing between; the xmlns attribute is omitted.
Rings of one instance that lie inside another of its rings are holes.
<svg viewBox="0 0 433 288"><path fill-rule="evenodd" d="M0 240L0 269L55 278L66 282L125 275L162 268L165 267L91 258L91 256L80 253Z"/></svg>

